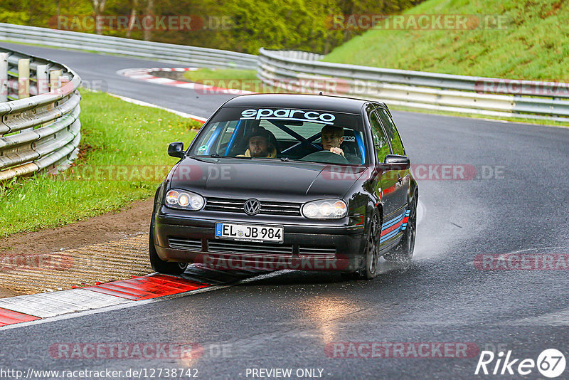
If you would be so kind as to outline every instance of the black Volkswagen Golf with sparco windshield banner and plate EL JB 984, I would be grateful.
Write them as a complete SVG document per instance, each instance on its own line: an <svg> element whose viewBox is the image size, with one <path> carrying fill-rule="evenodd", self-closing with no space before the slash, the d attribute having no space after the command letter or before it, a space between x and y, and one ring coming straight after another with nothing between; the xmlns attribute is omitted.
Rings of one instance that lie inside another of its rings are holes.
<svg viewBox="0 0 569 380"><path fill-rule="evenodd" d="M373 278L413 256L418 186L388 107L324 95L234 97L156 191L150 262Z"/></svg>

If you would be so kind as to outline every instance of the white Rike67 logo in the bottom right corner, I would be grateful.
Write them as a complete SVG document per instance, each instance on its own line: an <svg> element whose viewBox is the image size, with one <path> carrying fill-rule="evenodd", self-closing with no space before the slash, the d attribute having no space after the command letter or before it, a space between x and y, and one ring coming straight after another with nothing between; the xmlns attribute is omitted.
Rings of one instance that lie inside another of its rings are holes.
<svg viewBox="0 0 569 380"><path fill-rule="evenodd" d="M522 375L531 374L535 369L542 376L550 379L560 376L565 371L565 356L558 349L545 349L539 354L537 360L515 359L511 350L497 355L491 351L482 351L474 374L485 375Z"/></svg>

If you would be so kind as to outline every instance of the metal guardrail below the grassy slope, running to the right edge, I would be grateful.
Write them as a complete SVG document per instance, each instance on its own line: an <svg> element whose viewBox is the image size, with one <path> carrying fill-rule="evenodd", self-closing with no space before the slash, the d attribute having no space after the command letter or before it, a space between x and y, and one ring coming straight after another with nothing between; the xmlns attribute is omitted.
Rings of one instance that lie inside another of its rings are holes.
<svg viewBox="0 0 569 380"><path fill-rule="evenodd" d="M430 110L569 122L569 83L372 68L260 49L257 76L300 92L336 93Z"/></svg>

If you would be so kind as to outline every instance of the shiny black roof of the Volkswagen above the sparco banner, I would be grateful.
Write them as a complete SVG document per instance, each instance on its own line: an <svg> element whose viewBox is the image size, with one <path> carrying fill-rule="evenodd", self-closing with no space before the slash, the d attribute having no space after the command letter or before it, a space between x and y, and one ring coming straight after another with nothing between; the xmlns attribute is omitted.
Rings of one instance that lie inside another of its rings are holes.
<svg viewBox="0 0 569 380"><path fill-rule="evenodd" d="M333 110L361 115L368 100L329 95L309 94L251 94L233 97L223 107L279 107L301 110Z"/></svg>

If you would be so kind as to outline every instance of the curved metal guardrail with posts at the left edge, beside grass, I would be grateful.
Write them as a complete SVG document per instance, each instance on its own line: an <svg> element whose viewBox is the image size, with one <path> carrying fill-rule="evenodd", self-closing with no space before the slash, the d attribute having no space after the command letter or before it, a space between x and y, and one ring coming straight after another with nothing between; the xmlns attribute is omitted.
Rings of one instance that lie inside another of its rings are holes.
<svg viewBox="0 0 569 380"><path fill-rule="evenodd" d="M0 181L77 157L80 83L65 65L0 48Z"/></svg>

